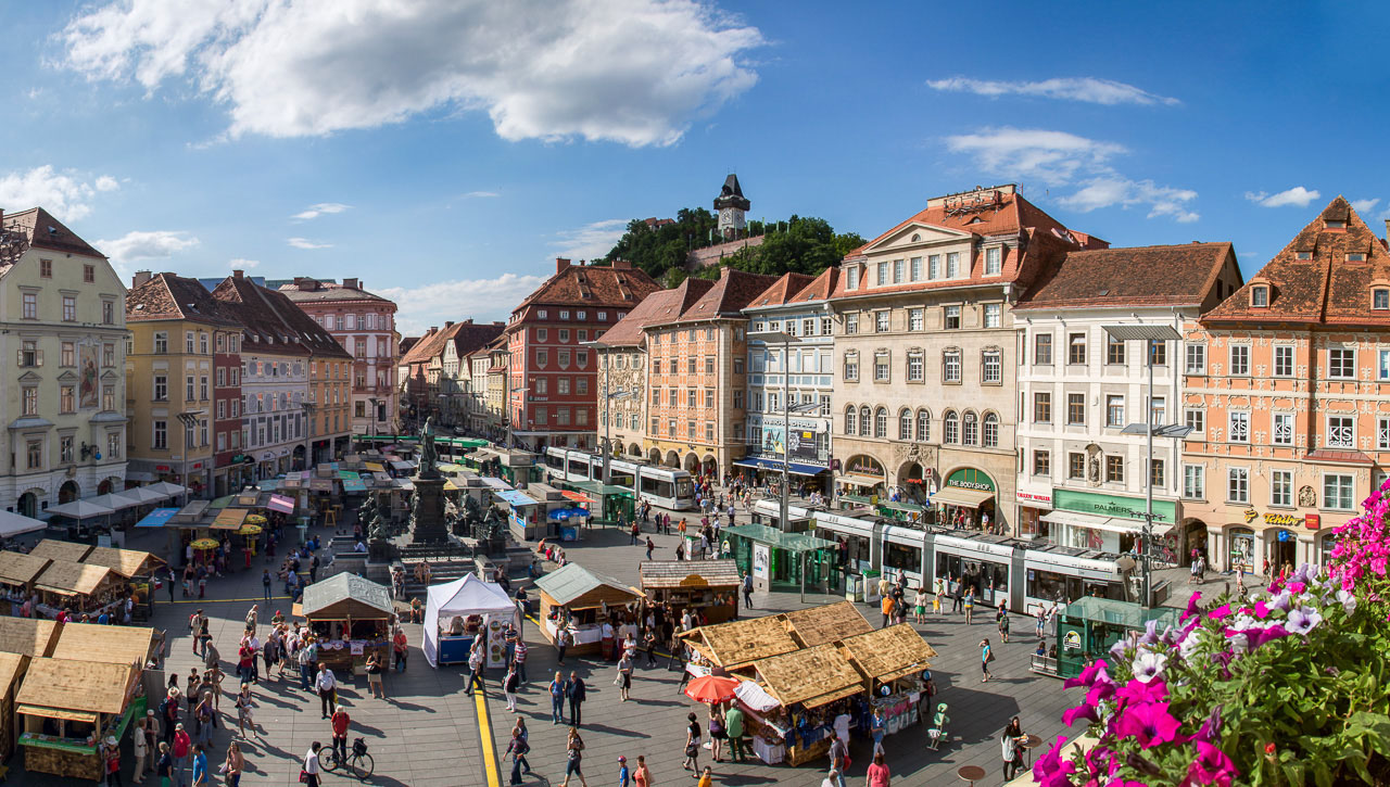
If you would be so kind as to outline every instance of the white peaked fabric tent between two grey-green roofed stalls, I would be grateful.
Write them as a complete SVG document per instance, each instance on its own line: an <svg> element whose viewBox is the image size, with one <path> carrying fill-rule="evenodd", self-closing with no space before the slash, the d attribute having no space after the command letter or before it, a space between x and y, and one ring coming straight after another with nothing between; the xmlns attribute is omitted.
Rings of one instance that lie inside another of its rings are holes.
<svg viewBox="0 0 1390 787"><path fill-rule="evenodd" d="M474 640L486 638L489 667L506 666L502 628L518 624L517 605L502 585L480 580L475 574L428 588L425 605L424 652L430 666L468 660Z"/></svg>

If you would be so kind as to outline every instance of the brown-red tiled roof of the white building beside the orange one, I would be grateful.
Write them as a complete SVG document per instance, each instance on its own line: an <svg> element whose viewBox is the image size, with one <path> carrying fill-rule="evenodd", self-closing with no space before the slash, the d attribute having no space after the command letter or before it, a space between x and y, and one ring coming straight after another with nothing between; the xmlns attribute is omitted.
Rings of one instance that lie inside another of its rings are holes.
<svg viewBox="0 0 1390 787"><path fill-rule="evenodd" d="M1070 252L1015 309L1201 306L1234 254L1230 243Z"/></svg>

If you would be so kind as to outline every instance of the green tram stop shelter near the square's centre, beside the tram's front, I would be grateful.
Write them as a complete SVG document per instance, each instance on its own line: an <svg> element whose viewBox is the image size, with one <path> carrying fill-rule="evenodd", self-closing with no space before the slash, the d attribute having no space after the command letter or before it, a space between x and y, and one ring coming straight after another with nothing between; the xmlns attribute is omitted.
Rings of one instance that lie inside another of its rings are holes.
<svg viewBox="0 0 1390 787"><path fill-rule="evenodd" d="M726 527L724 535L738 567L753 576L759 590L834 592L840 546L809 533L784 533L766 524Z"/></svg>

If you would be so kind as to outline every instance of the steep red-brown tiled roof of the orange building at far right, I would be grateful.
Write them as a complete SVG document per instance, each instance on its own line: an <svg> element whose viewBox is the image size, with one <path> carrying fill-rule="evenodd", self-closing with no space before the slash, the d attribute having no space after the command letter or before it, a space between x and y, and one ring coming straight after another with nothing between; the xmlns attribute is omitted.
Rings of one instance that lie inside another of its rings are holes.
<svg viewBox="0 0 1390 787"><path fill-rule="evenodd" d="M1346 221L1329 229L1326 221ZM1300 260L1308 252L1312 259ZM1347 260L1365 254L1364 261ZM1390 285L1390 253L1339 196L1234 295L1212 309L1204 323L1304 323L1346 327L1390 327L1390 311L1371 309L1371 285ZM1269 306L1254 309L1250 291L1269 286Z"/></svg>

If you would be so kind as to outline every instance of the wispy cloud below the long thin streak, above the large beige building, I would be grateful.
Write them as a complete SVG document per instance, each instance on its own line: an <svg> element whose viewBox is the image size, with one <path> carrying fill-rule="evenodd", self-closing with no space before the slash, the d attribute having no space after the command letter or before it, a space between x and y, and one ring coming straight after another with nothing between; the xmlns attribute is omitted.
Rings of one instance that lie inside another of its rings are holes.
<svg viewBox="0 0 1390 787"><path fill-rule="evenodd" d="M1079 170L1095 170L1111 157L1127 153L1123 145L1065 131L1009 127L948 136L947 147L974 156L976 164L991 175L1037 178L1049 185L1068 184Z"/></svg>

